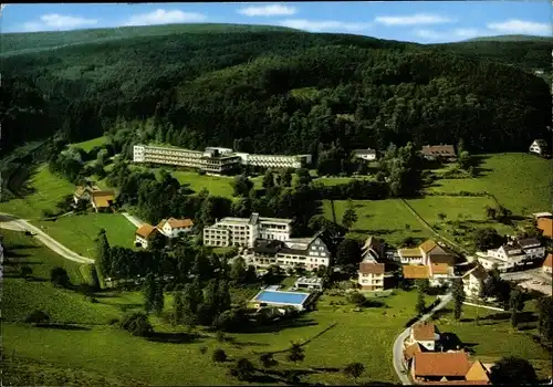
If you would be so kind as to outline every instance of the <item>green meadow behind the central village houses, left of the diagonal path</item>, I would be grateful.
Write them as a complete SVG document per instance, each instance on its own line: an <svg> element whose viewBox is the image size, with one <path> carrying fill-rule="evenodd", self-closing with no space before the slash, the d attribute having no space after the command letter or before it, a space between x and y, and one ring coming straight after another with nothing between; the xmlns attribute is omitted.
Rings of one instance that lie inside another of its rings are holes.
<svg viewBox="0 0 553 387"><path fill-rule="evenodd" d="M397 244L406 237L431 237L430 231L420 224L399 199L354 200L353 203L357 213L357 221L351 231L353 237L366 238L367 234L373 234L386 239L392 244ZM346 206L346 200L334 200L338 223L342 222ZM323 201L323 213L333 219L330 200Z"/></svg>

